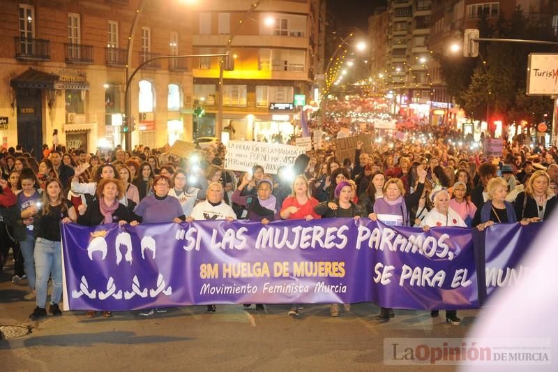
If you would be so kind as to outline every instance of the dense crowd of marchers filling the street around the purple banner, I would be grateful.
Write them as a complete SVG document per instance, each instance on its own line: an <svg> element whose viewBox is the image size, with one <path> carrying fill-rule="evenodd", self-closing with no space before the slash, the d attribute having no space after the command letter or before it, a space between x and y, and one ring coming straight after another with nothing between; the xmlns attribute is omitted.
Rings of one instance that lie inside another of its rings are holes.
<svg viewBox="0 0 558 372"><path fill-rule="evenodd" d="M0 267L11 249L13 282L27 281L24 299L36 301L32 319L47 315L49 280L48 311L61 315L61 223L370 218L425 231L439 226L483 230L494 223L545 221L558 193L556 147L534 152L513 142L495 158L451 144L444 135L420 143L389 137L359 142L354 158L345 159L336 157L334 142L326 142L278 174L260 165L249 172L224 169L226 147L220 143L189 158L170 154L168 145L96 154L45 145L40 158L18 146L0 156ZM215 312L216 306L207 310ZM332 316L339 311L339 304L331 304ZM156 312L165 309L141 315ZM108 309L101 315L112 316ZM292 304L289 315L299 315L299 306ZM377 315L382 321L393 316L390 308ZM460 322L452 309L446 310L446 320Z"/></svg>

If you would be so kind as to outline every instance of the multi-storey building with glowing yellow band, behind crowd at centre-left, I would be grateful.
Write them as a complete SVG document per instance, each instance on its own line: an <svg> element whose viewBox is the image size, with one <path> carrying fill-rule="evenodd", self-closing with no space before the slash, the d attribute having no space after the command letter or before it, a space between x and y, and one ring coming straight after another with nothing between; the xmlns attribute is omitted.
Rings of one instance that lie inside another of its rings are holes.
<svg viewBox="0 0 558 372"><path fill-rule="evenodd" d="M223 79L223 141L287 140L295 131L295 96L315 96L325 33L322 1L204 1L193 20L193 52L225 52L231 39L234 70ZM194 137L216 135L219 64L201 58L193 69Z"/></svg>

